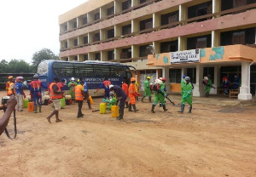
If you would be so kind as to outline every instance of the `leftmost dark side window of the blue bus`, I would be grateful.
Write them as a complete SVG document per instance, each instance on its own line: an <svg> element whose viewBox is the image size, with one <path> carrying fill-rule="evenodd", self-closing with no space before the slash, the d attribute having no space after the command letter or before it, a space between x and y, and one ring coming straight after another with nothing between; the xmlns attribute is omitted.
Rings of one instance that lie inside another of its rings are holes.
<svg viewBox="0 0 256 177"><path fill-rule="evenodd" d="M56 77L73 77L73 64L55 62L52 70Z"/></svg>

